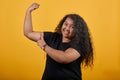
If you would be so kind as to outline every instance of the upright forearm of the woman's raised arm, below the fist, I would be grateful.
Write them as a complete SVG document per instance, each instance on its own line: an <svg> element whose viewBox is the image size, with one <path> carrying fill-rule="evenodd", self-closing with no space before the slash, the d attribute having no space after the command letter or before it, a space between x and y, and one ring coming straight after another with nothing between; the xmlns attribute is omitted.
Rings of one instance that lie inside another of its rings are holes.
<svg viewBox="0 0 120 80"><path fill-rule="evenodd" d="M32 28L32 19L31 19L31 12L27 10L26 16L25 16L25 21L24 21L24 35L29 36L29 33L33 31Z"/></svg>

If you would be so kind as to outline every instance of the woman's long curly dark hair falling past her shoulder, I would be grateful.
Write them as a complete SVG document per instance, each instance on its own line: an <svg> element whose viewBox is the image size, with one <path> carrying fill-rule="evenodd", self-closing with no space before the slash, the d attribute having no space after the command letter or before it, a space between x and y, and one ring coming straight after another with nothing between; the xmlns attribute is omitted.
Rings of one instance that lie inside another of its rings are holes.
<svg viewBox="0 0 120 80"><path fill-rule="evenodd" d="M82 64L87 66L93 65L93 46L90 38L90 33L88 30L88 26L84 19L78 14L67 14L63 17L60 23L57 25L55 32L61 33L61 28L66 18L71 18L74 21L74 28L76 33L74 38L71 39L71 45L75 47L75 45L79 44L81 46L82 51Z"/></svg>

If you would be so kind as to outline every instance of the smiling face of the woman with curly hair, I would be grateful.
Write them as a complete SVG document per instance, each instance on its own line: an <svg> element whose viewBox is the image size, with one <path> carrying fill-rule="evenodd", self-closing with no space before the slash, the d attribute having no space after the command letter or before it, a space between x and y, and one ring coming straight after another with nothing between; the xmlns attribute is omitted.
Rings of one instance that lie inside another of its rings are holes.
<svg viewBox="0 0 120 80"><path fill-rule="evenodd" d="M74 36L75 34L74 21L71 18L69 17L66 18L66 20L62 25L61 32L62 32L63 40L64 39L70 40Z"/></svg>

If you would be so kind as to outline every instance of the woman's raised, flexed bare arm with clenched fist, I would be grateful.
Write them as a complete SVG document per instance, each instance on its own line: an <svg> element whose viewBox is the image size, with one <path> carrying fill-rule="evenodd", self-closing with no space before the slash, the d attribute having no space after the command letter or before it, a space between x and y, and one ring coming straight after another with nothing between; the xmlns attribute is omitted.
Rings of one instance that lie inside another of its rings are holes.
<svg viewBox="0 0 120 80"><path fill-rule="evenodd" d="M33 41L38 41L40 39L41 32L33 31L32 27L32 16L31 13L35 9L39 8L39 4L33 3L26 11L26 16L24 20L24 35Z"/></svg>

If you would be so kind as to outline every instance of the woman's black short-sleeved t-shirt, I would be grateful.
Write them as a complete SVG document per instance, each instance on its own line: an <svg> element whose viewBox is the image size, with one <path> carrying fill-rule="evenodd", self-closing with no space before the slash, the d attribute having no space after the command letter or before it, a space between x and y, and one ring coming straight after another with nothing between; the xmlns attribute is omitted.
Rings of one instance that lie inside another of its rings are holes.
<svg viewBox="0 0 120 80"><path fill-rule="evenodd" d="M70 43L62 43L62 35L58 33L44 32L44 40L47 45L57 50L65 51L71 47ZM79 45L75 49L81 53ZM81 57L71 63L61 64L47 55L42 80L82 80L80 64Z"/></svg>

